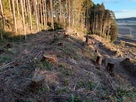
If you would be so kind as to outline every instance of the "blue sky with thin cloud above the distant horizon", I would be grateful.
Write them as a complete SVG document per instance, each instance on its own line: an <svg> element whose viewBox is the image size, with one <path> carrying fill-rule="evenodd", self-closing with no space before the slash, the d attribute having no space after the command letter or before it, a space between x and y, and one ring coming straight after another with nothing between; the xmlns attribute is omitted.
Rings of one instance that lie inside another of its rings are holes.
<svg viewBox="0 0 136 102"><path fill-rule="evenodd" d="M95 4L102 2L106 9L112 10L116 18L136 17L136 0L93 0Z"/></svg>

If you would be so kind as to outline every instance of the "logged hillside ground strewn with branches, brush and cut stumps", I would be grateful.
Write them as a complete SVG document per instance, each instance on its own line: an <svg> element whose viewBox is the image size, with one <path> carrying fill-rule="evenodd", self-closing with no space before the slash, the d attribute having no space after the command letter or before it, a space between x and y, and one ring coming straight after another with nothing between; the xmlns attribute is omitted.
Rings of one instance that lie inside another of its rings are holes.
<svg viewBox="0 0 136 102"><path fill-rule="evenodd" d="M135 42L91 35L86 44L81 35L41 31L1 41L0 102L135 102ZM114 74L97 56L115 64Z"/></svg>

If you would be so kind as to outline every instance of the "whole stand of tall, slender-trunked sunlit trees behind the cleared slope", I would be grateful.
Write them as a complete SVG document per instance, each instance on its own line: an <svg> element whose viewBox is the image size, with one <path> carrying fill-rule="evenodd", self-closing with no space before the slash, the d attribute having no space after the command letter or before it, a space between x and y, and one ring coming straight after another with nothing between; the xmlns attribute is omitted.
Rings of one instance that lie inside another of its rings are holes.
<svg viewBox="0 0 136 102"><path fill-rule="evenodd" d="M4 31L26 36L67 27L109 36L116 28L112 14L92 0L0 0L1 39Z"/></svg>

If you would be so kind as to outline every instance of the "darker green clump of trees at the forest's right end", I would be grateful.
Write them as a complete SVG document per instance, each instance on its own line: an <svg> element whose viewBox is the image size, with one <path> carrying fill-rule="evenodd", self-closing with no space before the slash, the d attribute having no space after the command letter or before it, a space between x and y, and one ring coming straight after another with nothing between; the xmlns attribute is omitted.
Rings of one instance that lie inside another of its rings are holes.
<svg viewBox="0 0 136 102"><path fill-rule="evenodd" d="M90 30L94 34L98 34L105 38L110 37L110 40L114 41L117 37L115 19L114 12L105 9L103 3L101 5L94 4L90 9Z"/></svg>

